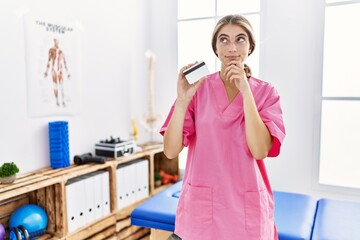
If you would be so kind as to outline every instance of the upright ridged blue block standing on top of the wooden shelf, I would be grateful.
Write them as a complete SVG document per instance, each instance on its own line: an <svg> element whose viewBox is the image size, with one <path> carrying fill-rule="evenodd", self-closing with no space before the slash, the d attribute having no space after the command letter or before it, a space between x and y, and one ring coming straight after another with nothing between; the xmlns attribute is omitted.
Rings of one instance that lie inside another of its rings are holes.
<svg viewBox="0 0 360 240"><path fill-rule="evenodd" d="M49 122L48 130L51 168L70 166L68 122Z"/></svg>

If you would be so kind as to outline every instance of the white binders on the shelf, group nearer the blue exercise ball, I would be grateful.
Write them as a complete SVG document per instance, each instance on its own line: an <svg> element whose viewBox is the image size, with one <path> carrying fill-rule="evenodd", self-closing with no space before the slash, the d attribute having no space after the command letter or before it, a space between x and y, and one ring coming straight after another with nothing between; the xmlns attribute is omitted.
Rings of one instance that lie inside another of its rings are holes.
<svg viewBox="0 0 360 240"><path fill-rule="evenodd" d="M65 190L69 233L110 214L108 171L70 179Z"/></svg>

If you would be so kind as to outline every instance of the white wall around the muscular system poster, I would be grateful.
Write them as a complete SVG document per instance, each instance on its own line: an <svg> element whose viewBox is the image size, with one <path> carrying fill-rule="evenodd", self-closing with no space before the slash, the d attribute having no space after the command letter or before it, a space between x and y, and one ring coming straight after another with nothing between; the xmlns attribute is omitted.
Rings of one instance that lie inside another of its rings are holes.
<svg viewBox="0 0 360 240"><path fill-rule="evenodd" d="M14 161L21 173L50 165L50 121L69 122L71 159L94 152L99 140L129 137L133 81L144 78L148 48L147 1L0 1L0 163ZM82 107L74 116L27 115L25 40L21 12L78 20L81 36ZM140 67L136 67L140 65ZM138 102L141 102L139 100ZM139 104L137 104L139 105Z"/></svg>

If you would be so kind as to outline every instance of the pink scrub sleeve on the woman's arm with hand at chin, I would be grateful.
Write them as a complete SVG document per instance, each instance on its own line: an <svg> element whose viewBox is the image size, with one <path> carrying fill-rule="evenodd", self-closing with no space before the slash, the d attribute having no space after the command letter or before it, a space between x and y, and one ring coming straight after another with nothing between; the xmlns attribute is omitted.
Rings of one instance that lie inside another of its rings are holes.
<svg viewBox="0 0 360 240"><path fill-rule="evenodd" d="M285 138L285 126L282 118L280 96L274 87L271 86L259 114L273 137L273 144L268 157L276 157L280 153L281 144Z"/></svg>

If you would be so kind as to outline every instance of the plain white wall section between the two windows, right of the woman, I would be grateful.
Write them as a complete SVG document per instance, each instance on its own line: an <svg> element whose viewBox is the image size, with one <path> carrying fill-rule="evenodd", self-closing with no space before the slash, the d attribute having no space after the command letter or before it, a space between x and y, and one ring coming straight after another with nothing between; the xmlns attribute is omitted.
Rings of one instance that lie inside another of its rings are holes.
<svg viewBox="0 0 360 240"><path fill-rule="evenodd" d="M269 175L275 189L312 193L324 1L262 3L260 72L280 93L287 131L280 156L267 160Z"/></svg>

